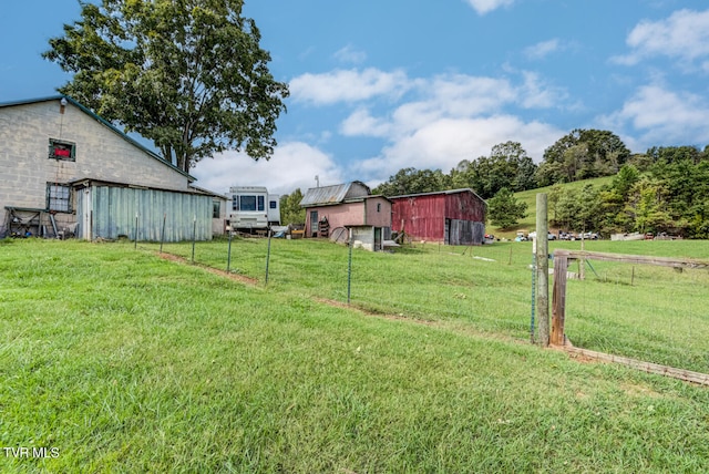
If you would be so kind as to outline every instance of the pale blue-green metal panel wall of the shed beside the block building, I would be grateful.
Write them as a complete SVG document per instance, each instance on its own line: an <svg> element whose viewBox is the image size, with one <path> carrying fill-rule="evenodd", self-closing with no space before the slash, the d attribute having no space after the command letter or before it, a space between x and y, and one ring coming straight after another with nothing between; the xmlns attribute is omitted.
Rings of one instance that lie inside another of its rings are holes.
<svg viewBox="0 0 709 474"><path fill-rule="evenodd" d="M212 239L212 196L115 186L90 189L78 206L78 220L91 225L85 238L134 239L137 231L138 240L158 241L164 220L164 241L192 240L193 231L197 240ZM83 203L86 198L91 208ZM85 213L91 213L89 218Z"/></svg>

